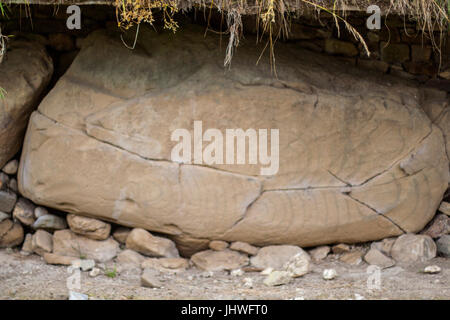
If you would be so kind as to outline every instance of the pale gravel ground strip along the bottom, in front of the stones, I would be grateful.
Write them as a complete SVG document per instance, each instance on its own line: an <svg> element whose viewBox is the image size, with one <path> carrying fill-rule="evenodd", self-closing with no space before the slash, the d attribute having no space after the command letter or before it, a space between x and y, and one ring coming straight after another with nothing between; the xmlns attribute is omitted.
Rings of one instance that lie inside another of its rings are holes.
<svg viewBox="0 0 450 320"><path fill-rule="evenodd" d="M421 272L427 265L438 265L438 274ZM369 289L367 265L349 266L329 256L314 265L311 273L279 287L267 287L264 276L246 272L232 276L228 272L209 272L190 268L180 273L161 273L163 287L140 286L139 268L116 266L115 277L104 271L92 278L81 273L78 292L89 299L450 299L450 259L435 258L427 263L397 265L381 271L379 289ZM334 268L338 277L322 279L322 271ZM19 252L0 250L0 299L67 299L67 279L73 275L65 266L47 265L37 255L22 256ZM253 287L245 286L250 278ZM248 280L247 280L248 281ZM370 280L369 280L370 282Z"/></svg>

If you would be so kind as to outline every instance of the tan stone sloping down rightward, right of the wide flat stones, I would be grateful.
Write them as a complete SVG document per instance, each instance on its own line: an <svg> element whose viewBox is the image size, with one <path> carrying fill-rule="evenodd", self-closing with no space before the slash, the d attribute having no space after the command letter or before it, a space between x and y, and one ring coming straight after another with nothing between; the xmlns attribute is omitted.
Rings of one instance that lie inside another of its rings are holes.
<svg viewBox="0 0 450 320"><path fill-rule="evenodd" d="M150 232L135 228L127 237L127 248L142 253L149 257L179 257L178 250L173 241L155 237Z"/></svg>

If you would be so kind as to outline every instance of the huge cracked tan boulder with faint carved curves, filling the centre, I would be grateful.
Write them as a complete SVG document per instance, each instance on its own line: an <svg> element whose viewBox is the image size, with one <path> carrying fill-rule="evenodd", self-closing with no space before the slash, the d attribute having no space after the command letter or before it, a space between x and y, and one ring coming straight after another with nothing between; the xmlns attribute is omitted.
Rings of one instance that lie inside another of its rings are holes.
<svg viewBox="0 0 450 320"><path fill-rule="evenodd" d="M276 78L268 59L255 66L253 43L224 70L219 39L202 30L142 28L139 39L134 51L106 31L84 42L31 117L24 196L166 233L184 249L369 241L433 217L449 167L421 89L291 45L277 47ZM172 161L172 132L192 134L196 120L203 132L279 129L277 174Z"/></svg>

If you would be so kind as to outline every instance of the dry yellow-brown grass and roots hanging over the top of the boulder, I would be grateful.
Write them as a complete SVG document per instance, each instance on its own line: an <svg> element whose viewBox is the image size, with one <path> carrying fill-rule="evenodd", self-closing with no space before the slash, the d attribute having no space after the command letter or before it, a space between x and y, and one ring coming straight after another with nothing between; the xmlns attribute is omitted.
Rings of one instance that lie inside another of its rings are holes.
<svg viewBox="0 0 450 320"><path fill-rule="evenodd" d="M396 13L403 15L405 19L417 21L422 32L428 33L433 47L439 50L441 41L436 42L433 30L447 30L449 27L450 1L449 0L114 0L119 27L128 29L142 22L153 24L153 11L160 10L163 13L164 28L176 31L178 24L174 15L178 11L187 11L192 8L203 10L216 9L226 15L229 35L224 65L229 66L235 48L239 46L242 36L243 14L255 14L257 16L257 28L261 31L259 40L267 39L264 51L269 48L271 65L275 66L274 45L281 37L289 37L291 16L301 16L305 12L327 12L330 14L338 28L343 24L353 37L358 40L367 55L369 49L361 34L346 20L346 8L353 7L364 10L371 4L383 7L386 15ZM443 35L443 32L441 32ZM441 36L442 36L441 35ZM261 57L260 57L261 58ZM259 59L258 59L259 61Z"/></svg>

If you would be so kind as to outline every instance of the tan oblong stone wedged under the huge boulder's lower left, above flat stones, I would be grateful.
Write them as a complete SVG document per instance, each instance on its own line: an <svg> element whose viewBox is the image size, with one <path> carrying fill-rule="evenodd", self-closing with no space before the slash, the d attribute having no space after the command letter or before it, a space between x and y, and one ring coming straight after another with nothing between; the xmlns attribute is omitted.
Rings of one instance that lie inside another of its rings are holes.
<svg viewBox="0 0 450 320"><path fill-rule="evenodd" d="M67 215L67 223L73 232L94 240L106 240L111 232L109 223L76 214Z"/></svg>

